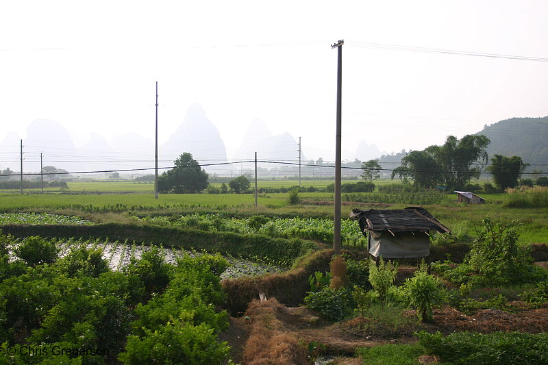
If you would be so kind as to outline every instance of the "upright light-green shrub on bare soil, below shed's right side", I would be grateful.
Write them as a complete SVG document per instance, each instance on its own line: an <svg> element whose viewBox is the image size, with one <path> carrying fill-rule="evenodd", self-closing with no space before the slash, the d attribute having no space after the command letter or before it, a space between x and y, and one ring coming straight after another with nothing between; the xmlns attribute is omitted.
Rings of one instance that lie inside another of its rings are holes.
<svg viewBox="0 0 548 365"><path fill-rule="evenodd" d="M416 315L423 321L433 320L433 308L445 302L445 290L440 281L421 267L414 276L403 284L409 304L416 309Z"/></svg>

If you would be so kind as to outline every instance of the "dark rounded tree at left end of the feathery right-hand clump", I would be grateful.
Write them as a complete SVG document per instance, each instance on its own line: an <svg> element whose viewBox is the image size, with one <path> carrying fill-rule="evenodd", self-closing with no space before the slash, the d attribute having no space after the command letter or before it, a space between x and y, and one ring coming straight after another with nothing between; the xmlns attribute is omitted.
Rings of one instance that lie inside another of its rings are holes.
<svg viewBox="0 0 548 365"><path fill-rule="evenodd" d="M433 188L443 181L441 166L426 151L410 151L401 158L401 166L392 171L392 178L410 178L416 186Z"/></svg>

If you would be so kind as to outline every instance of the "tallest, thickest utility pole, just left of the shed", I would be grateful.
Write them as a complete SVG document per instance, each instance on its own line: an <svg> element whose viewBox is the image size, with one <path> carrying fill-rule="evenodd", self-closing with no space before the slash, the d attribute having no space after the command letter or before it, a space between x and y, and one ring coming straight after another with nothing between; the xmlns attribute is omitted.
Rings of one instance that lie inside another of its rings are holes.
<svg viewBox="0 0 548 365"><path fill-rule="evenodd" d="M340 144L341 144L341 99L343 96L343 45L344 40L339 40L331 46L337 49L337 126L335 136L335 212L334 212L334 234L333 251L340 253Z"/></svg>

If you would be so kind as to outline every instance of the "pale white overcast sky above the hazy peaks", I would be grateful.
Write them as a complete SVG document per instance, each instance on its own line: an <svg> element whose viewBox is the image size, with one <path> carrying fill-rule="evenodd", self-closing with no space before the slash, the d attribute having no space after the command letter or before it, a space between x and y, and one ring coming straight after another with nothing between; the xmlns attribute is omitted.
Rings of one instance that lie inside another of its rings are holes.
<svg viewBox="0 0 548 365"><path fill-rule="evenodd" d="M334 151L424 149L548 115L546 1L3 1L0 141L38 118L166 141L201 105L231 154L253 119ZM458 51L424 52L420 49ZM462 53L471 53L465 55ZM543 62L477 53L541 58ZM265 141L265 143L268 141Z"/></svg>

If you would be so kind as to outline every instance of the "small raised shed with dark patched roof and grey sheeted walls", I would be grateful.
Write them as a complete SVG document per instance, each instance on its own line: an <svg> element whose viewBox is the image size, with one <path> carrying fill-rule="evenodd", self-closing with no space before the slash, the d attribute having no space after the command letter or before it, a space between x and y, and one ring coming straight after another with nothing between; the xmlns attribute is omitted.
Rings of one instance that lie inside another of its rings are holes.
<svg viewBox="0 0 548 365"><path fill-rule="evenodd" d="M373 257L385 259L428 257L429 231L449 233L422 207L404 209L352 210L350 218L358 220L362 234L368 238L367 250ZM369 231L369 234L367 232Z"/></svg>

